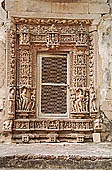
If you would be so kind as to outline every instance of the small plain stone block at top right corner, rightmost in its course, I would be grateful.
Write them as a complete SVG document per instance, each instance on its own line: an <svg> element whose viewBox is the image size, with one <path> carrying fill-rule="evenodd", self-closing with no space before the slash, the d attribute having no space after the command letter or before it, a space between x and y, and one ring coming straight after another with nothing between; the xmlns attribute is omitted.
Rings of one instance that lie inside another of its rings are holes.
<svg viewBox="0 0 112 170"><path fill-rule="evenodd" d="M107 4L89 3L89 13L109 13L109 6Z"/></svg>

